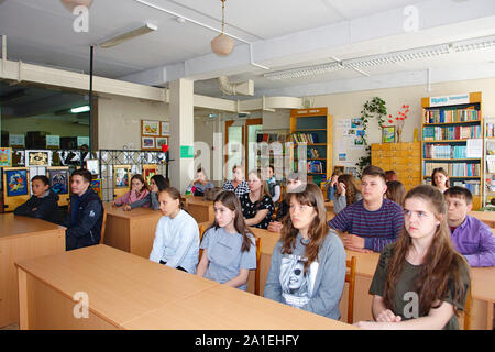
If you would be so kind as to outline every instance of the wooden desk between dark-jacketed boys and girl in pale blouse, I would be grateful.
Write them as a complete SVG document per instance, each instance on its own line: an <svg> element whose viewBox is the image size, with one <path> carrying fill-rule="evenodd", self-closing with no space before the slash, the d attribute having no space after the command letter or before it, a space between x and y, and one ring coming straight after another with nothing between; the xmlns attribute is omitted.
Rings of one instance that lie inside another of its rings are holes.
<svg viewBox="0 0 495 352"><path fill-rule="evenodd" d="M107 211L105 244L148 258L162 211L150 208L125 211L122 207L112 207L111 202L103 207Z"/></svg>

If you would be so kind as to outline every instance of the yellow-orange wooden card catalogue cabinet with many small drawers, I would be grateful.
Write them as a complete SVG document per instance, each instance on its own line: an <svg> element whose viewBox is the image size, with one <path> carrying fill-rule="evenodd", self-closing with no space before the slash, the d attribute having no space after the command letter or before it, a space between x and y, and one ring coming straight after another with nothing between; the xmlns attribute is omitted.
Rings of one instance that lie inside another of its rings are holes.
<svg viewBox="0 0 495 352"><path fill-rule="evenodd" d="M421 143L372 144L372 164L394 169L406 190L421 184Z"/></svg>

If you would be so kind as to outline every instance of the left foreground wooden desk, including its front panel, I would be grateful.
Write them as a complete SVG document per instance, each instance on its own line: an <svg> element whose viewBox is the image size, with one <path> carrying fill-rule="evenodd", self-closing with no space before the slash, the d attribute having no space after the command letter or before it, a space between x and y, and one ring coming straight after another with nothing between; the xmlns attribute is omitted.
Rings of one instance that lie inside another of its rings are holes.
<svg viewBox="0 0 495 352"><path fill-rule="evenodd" d="M138 317L220 285L102 244L16 266L21 329L123 329ZM88 295L87 319L74 317L76 293Z"/></svg>

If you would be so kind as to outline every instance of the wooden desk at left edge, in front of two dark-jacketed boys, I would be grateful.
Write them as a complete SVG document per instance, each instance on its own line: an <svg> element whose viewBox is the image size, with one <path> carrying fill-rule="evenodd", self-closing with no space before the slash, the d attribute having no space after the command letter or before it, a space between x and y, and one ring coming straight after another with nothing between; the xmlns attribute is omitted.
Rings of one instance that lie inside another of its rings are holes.
<svg viewBox="0 0 495 352"><path fill-rule="evenodd" d="M0 327L19 322L14 263L65 252L65 228L55 223L0 213Z"/></svg>

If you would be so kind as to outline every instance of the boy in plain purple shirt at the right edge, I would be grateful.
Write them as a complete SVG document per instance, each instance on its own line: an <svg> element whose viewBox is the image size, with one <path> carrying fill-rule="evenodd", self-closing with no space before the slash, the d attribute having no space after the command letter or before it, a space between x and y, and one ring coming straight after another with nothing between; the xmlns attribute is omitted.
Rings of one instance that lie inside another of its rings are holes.
<svg viewBox="0 0 495 352"><path fill-rule="evenodd" d="M447 223L455 250L471 266L495 266L495 237L479 219L469 216L473 196L468 188L451 187L443 193L447 204Z"/></svg>

